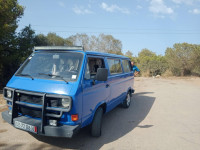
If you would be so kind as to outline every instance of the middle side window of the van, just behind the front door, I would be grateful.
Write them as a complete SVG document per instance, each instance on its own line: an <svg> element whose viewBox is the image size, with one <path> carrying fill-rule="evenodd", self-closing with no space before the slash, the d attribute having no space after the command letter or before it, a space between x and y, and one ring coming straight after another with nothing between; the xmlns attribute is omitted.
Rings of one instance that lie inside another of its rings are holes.
<svg viewBox="0 0 200 150"><path fill-rule="evenodd" d="M111 74L122 73L122 67L119 59L107 59Z"/></svg>

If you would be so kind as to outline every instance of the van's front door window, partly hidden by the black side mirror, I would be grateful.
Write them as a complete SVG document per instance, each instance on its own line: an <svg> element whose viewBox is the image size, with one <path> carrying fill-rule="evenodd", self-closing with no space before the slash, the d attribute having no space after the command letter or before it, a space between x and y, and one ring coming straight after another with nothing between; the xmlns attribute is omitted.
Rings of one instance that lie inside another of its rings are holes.
<svg viewBox="0 0 200 150"><path fill-rule="evenodd" d="M105 68L104 60L102 58L89 57L84 78L86 80L94 79L98 68Z"/></svg>

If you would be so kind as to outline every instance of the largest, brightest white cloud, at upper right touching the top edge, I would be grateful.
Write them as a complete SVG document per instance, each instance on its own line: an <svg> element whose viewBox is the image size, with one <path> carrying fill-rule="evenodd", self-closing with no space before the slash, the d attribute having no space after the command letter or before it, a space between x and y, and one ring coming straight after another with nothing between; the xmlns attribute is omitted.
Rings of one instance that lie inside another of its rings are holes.
<svg viewBox="0 0 200 150"><path fill-rule="evenodd" d="M174 10L167 7L163 0L151 0L149 10L155 14L173 14Z"/></svg>

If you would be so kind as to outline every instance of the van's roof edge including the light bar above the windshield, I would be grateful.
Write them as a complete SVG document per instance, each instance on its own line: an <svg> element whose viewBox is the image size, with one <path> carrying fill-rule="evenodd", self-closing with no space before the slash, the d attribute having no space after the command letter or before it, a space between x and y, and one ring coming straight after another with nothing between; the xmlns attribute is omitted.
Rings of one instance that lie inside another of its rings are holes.
<svg viewBox="0 0 200 150"><path fill-rule="evenodd" d="M37 47L34 47L34 51L49 51L49 50L77 51L77 52L82 52L82 53L86 53L86 54L89 54L89 55L129 59L128 57L125 57L125 56L122 56L122 55L116 55L116 54L111 54L111 53L103 53L103 52L94 52L94 51L85 51L83 46L37 46Z"/></svg>

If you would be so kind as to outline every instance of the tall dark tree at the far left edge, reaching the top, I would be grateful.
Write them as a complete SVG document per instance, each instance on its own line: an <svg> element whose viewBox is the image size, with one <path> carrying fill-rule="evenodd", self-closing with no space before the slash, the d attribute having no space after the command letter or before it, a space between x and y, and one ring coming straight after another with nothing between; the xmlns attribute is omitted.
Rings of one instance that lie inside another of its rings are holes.
<svg viewBox="0 0 200 150"><path fill-rule="evenodd" d="M15 30L24 8L17 0L0 0L0 87L11 77L16 61L17 39Z"/></svg>

